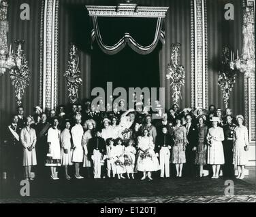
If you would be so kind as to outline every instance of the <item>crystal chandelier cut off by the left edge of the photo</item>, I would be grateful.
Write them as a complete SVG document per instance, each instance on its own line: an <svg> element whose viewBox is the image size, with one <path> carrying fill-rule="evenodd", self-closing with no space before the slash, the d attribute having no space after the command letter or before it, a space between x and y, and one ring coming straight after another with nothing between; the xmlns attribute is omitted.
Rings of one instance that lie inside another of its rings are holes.
<svg viewBox="0 0 256 217"><path fill-rule="evenodd" d="M9 54L7 51L7 7L7 0L0 0L0 76L5 73L7 68L15 66L11 45Z"/></svg>

